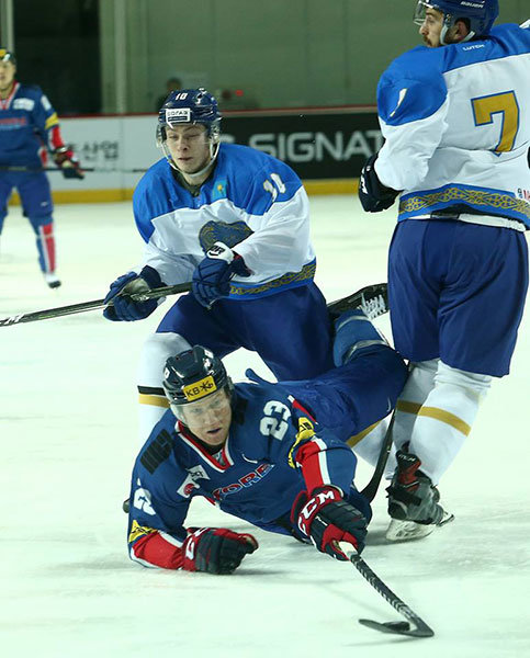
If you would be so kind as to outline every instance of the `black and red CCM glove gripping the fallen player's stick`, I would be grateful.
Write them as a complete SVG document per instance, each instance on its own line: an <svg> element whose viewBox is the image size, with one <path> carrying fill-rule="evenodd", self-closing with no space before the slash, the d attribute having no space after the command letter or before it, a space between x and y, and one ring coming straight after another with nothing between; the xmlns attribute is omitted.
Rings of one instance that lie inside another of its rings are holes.
<svg viewBox="0 0 530 658"><path fill-rule="evenodd" d="M336 542L349 542L358 553L364 548L367 519L335 487L315 489L311 497L301 491L291 509L291 523L320 553L336 559L348 559Z"/></svg>

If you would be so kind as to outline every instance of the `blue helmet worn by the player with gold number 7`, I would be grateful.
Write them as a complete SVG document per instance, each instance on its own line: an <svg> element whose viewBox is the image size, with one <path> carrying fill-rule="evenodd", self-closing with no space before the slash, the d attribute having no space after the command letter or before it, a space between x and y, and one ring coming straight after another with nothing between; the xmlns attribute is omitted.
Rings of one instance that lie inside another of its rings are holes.
<svg viewBox="0 0 530 658"><path fill-rule="evenodd" d="M414 14L417 25L422 24L428 9L436 9L443 14L440 33L442 44L447 44L448 30L459 20L465 20L470 29L470 34L463 41L488 34L499 12L498 0L419 0Z"/></svg>

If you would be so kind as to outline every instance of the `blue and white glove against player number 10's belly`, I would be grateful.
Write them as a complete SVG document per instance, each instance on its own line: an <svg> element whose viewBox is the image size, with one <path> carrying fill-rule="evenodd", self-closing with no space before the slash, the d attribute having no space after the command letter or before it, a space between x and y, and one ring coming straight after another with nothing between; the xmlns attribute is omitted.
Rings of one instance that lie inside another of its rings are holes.
<svg viewBox="0 0 530 658"><path fill-rule="evenodd" d="M210 308L230 292L233 276L250 276L250 270L240 256L223 242L215 242L193 272L192 292L202 306Z"/></svg>

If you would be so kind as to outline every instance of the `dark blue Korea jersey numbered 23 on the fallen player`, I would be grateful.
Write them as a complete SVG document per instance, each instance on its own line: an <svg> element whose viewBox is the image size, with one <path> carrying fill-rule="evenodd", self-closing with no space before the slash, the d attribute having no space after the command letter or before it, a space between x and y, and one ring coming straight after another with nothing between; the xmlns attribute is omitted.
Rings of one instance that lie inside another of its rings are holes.
<svg viewBox="0 0 530 658"><path fill-rule="evenodd" d="M293 534L289 514L296 495L335 485L370 518L368 501L351 488L357 458L346 444L348 436L339 440L324 430L278 384L235 385L229 436L217 455L208 454L166 411L133 470L131 558L179 568L184 520L195 496L264 530Z"/></svg>

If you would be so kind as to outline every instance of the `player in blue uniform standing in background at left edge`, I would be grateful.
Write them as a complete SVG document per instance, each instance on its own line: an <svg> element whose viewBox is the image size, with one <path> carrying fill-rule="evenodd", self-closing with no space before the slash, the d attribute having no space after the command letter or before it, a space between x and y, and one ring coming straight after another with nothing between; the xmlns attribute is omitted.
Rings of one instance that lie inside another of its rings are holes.
<svg viewBox="0 0 530 658"><path fill-rule="evenodd" d="M14 78L13 53L0 47L0 234L8 201L16 189L24 215L36 235L38 263L49 287L60 285L56 274L53 202L40 151L49 150L65 178L82 179L74 152L59 132L55 110L38 87ZM19 169L19 171L16 171Z"/></svg>

